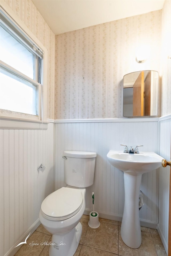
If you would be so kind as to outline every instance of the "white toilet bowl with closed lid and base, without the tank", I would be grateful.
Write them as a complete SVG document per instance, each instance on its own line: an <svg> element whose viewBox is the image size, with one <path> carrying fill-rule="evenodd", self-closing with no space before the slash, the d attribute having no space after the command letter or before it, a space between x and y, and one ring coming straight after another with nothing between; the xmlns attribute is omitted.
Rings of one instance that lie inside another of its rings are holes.
<svg viewBox="0 0 171 256"><path fill-rule="evenodd" d="M59 192L58 195L55 195L56 192ZM73 192L80 192L80 193L77 194ZM47 202L45 202L46 205L43 205L41 207L41 210L39 213L39 219L42 225L45 227L45 229L52 234L52 240L51 240L52 245L49 248L50 256L55 256L55 255L70 256L75 253L81 238L81 233L82 233L82 226L78 224L85 210L85 194L86 194L86 189L75 189L75 188L63 187L53 192L52 194L50 194L48 196L48 199L46 197ZM60 203L58 202L59 197L63 198L64 196L66 199L67 195L69 197L70 202L74 201L74 203L76 198L75 197L72 198L72 196L79 196L79 200L77 201L77 203L75 203L74 206L72 206L72 210L69 210L69 207L68 207L69 200L67 200L67 202L63 201L62 206L60 205L61 202ZM57 197L56 201L53 201L55 196ZM60 207L64 207L63 208L64 216L61 216L61 214L58 214L58 211L56 211L56 217L55 217L55 213L54 213L55 210L51 214L52 216L49 216L50 211L48 208L46 211L46 206L48 207L48 202L51 203L52 201L53 201L54 209L56 208L56 210L58 210Z"/></svg>

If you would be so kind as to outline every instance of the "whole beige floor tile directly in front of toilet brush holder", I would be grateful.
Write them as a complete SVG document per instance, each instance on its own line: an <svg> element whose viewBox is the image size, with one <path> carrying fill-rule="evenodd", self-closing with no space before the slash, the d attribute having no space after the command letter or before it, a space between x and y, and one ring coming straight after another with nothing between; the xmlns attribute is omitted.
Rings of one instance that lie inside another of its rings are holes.
<svg viewBox="0 0 171 256"><path fill-rule="evenodd" d="M98 228L88 227L83 245L118 253L118 226L100 223Z"/></svg>

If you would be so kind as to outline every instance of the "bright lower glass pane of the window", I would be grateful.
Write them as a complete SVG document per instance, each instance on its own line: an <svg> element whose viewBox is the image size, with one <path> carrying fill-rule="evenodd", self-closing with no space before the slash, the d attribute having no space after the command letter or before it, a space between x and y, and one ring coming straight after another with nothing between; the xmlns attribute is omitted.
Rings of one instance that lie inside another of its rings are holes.
<svg viewBox="0 0 171 256"><path fill-rule="evenodd" d="M0 107L37 116L37 86L2 68L0 77Z"/></svg>

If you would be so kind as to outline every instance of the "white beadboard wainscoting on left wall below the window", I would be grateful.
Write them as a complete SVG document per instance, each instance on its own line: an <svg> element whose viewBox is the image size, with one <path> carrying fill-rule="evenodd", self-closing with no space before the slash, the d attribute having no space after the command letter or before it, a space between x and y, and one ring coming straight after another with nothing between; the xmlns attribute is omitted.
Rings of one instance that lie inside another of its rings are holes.
<svg viewBox="0 0 171 256"><path fill-rule="evenodd" d="M44 198L54 191L54 124L47 130L0 130L1 246L0 255L14 255L40 221ZM37 171L40 164L43 172Z"/></svg>

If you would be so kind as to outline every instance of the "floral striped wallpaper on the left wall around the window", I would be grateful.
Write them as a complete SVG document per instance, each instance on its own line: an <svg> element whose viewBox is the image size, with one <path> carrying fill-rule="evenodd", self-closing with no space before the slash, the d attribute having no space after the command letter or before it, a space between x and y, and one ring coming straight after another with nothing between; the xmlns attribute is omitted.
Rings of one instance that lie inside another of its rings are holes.
<svg viewBox="0 0 171 256"><path fill-rule="evenodd" d="M5 0L5 2L48 50L47 112L48 118L54 119L55 35L31 0Z"/></svg>

